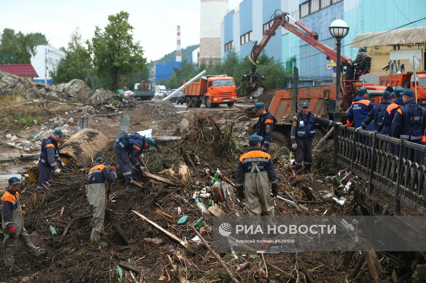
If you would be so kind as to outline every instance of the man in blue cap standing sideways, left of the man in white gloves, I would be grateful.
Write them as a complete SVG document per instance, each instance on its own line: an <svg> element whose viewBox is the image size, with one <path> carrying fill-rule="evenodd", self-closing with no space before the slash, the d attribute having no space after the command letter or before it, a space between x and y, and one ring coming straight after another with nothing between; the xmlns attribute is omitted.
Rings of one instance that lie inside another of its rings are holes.
<svg viewBox="0 0 426 283"><path fill-rule="evenodd" d="M260 143L260 147L262 151L268 152L269 146L272 142L276 118L269 112L269 110L265 110L265 104L262 102L257 102L254 105L253 111L256 111L256 113L260 115L259 122L257 122L256 131L256 135L263 138L262 142Z"/></svg>

